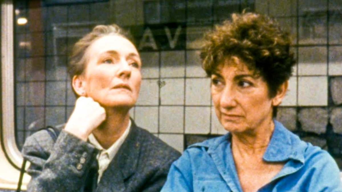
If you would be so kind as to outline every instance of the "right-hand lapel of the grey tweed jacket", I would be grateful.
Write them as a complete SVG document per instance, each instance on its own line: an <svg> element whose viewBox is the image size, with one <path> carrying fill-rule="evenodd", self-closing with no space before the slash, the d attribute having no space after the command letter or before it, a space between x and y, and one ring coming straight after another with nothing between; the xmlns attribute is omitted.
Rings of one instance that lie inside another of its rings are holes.
<svg viewBox="0 0 342 192"><path fill-rule="evenodd" d="M140 129L131 119L131 130L118 153L104 171L96 191L124 191L125 181L134 174L140 153Z"/></svg>

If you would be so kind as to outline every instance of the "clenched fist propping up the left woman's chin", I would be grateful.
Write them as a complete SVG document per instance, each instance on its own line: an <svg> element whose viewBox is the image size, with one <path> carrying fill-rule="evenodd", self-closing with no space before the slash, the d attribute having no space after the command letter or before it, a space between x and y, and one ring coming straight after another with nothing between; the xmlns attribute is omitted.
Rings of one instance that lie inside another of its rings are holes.
<svg viewBox="0 0 342 192"><path fill-rule="evenodd" d="M79 97L64 130L87 141L88 136L106 119L106 111L91 97Z"/></svg>

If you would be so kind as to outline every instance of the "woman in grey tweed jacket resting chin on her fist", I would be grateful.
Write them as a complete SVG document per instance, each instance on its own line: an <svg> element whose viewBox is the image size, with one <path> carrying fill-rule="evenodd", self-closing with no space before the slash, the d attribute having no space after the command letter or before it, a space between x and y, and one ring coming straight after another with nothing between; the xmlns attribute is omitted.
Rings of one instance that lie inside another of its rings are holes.
<svg viewBox="0 0 342 192"><path fill-rule="evenodd" d="M160 191L180 153L130 119L141 67L117 25L96 26L75 44L68 67L73 113L61 131L43 129L23 147L29 192Z"/></svg>

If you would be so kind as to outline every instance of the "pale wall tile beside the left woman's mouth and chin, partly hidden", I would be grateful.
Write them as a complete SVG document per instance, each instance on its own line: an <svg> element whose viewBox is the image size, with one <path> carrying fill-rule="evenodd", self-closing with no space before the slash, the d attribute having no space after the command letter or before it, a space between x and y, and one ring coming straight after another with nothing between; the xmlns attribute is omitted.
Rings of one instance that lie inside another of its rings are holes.
<svg viewBox="0 0 342 192"><path fill-rule="evenodd" d="M158 79L143 79L136 105L158 105Z"/></svg>

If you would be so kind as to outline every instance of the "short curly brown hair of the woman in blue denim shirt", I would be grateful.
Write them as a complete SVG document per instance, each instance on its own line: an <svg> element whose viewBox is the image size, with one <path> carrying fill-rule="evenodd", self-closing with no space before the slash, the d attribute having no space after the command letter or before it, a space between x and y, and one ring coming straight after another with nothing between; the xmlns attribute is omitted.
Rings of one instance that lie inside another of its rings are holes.
<svg viewBox="0 0 342 192"><path fill-rule="evenodd" d="M210 77L224 59L238 57L263 78L272 98L291 77L295 59L290 46L289 33L274 19L258 13L234 13L231 21L224 21L206 34L200 54L202 68Z"/></svg>

